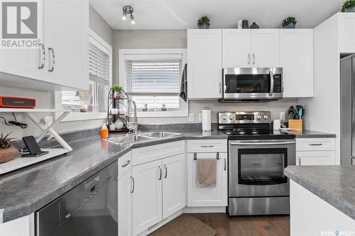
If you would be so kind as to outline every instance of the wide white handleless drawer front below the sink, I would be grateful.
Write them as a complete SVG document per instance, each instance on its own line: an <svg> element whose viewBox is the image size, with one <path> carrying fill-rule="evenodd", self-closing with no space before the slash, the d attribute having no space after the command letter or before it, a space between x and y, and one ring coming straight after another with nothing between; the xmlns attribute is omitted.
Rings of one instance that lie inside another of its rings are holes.
<svg viewBox="0 0 355 236"><path fill-rule="evenodd" d="M156 159L171 157L181 153L185 153L185 140L139 147L132 150L132 165L152 162Z"/></svg>

